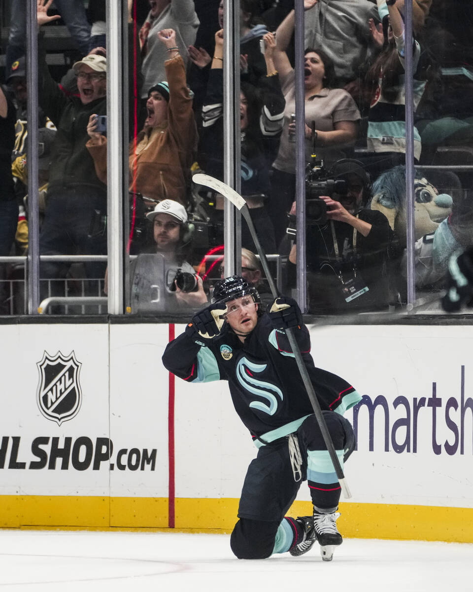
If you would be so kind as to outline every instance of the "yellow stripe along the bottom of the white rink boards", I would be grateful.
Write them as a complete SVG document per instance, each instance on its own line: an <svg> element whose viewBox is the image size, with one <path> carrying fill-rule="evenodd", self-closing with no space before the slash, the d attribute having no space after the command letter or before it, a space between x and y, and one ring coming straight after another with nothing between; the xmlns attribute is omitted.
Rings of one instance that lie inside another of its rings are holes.
<svg viewBox="0 0 473 592"><path fill-rule="evenodd" d="M176 529L229 533L236 498L176 498ZM342 502L338 528L346 538L473 543L473 508ZM295 501L289 516L312 512ZM168 500L154 497L1 496L0 528L168 530Z"/></svg>

